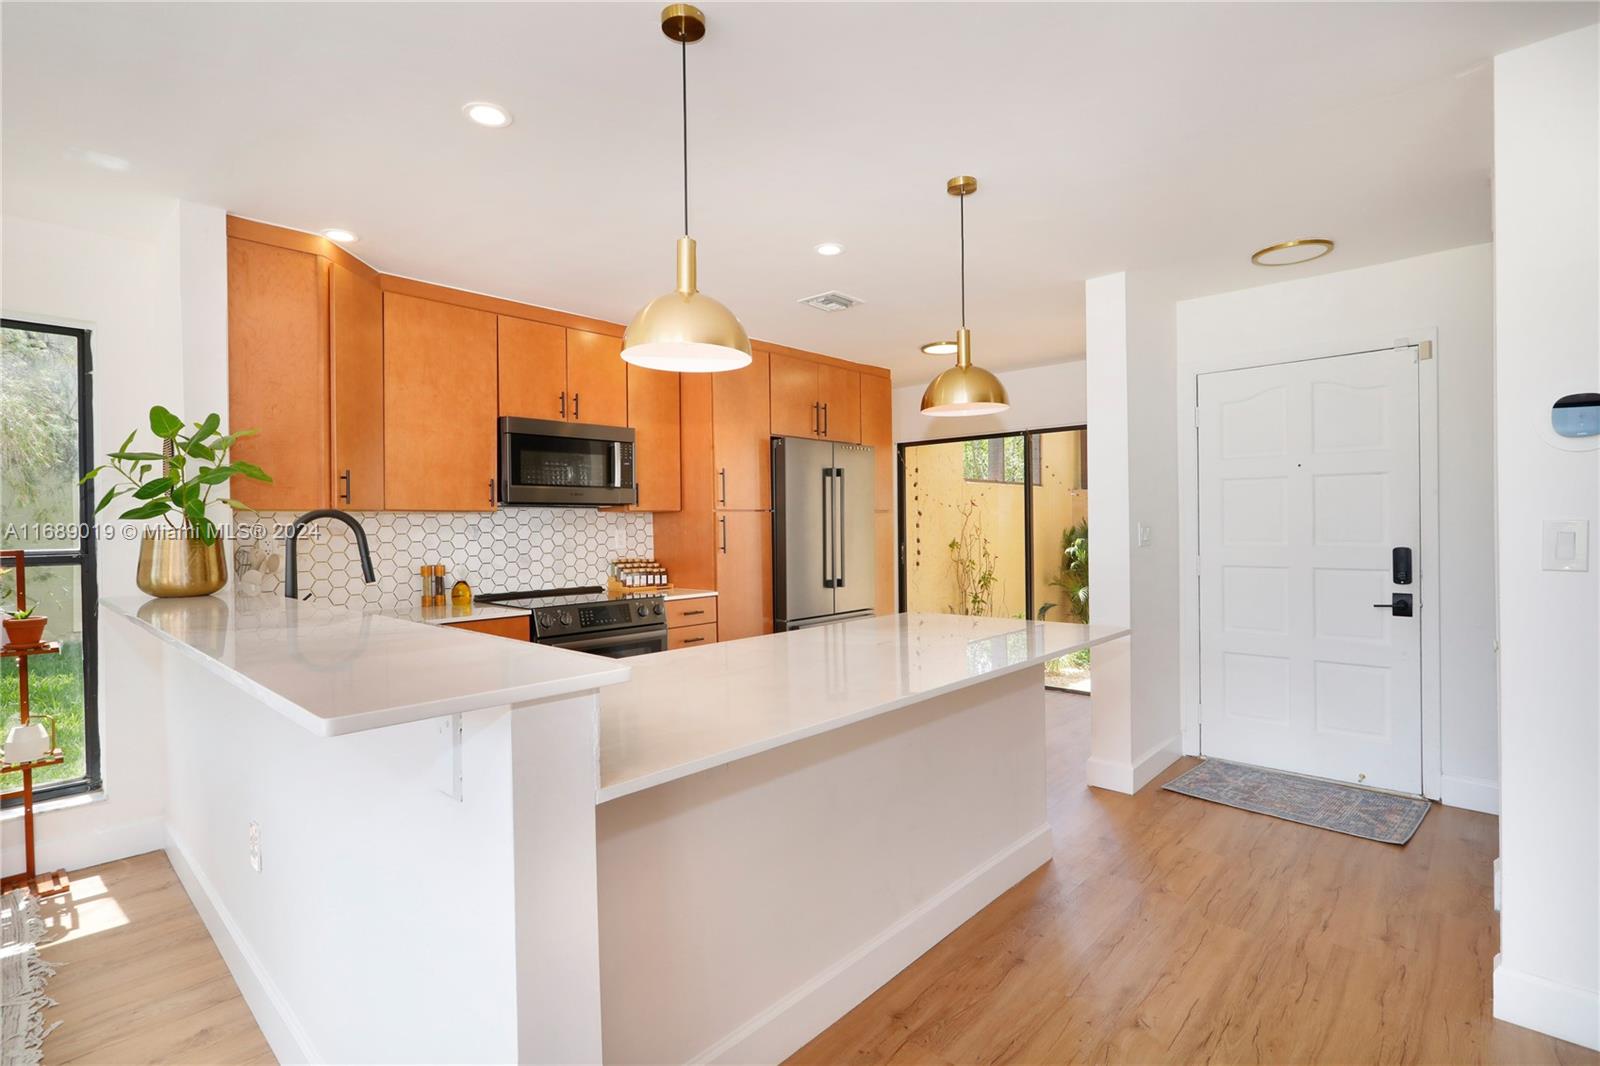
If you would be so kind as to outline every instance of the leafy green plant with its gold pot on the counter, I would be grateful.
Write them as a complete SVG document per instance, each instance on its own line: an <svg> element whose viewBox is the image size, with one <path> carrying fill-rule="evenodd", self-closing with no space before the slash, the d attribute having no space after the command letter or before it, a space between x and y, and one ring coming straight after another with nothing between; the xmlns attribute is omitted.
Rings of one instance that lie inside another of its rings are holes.
<svg viewBox="0 0 1600 1066"><path fill-rule="evenodd" d="M229 459L229 451L253 429L221 432L221 415L208 415L192 423L192 429L165 407L150 408L150 432L160 440L160 451L134 451L128 434L122 447L107 455L106 466L83 475L90 480L112 471L123 483L112 485L94 514L120 496L138 501L118 517L128 520L160 519L144 531L139 543L139 589L147 595L210 595L227 584L227 554L216 523L206 515L211 491L232 477L258 482L272 479L253 463ZM245 509L237 499L222 499L230 507Z"/></svg>

